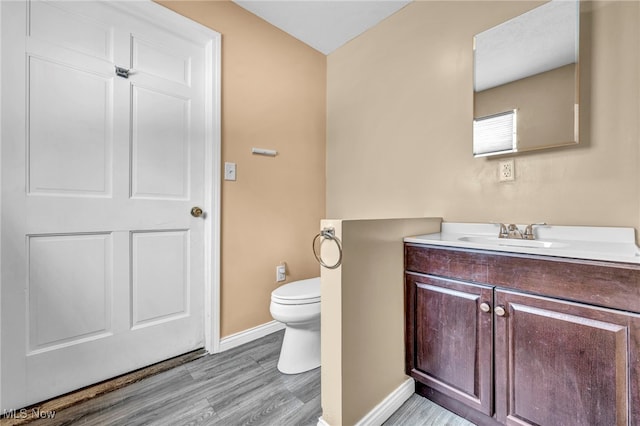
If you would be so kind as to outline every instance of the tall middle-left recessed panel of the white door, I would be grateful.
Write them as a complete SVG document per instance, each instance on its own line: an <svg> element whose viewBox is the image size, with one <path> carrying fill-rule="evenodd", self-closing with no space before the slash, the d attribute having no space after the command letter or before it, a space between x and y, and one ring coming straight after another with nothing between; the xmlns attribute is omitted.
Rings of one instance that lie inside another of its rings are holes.
<svg viewBox="0 0 640 426"><path fill-rule="evenodd" d="M110 195L111 75L30 57L28 119L30 193Z"/></svg>

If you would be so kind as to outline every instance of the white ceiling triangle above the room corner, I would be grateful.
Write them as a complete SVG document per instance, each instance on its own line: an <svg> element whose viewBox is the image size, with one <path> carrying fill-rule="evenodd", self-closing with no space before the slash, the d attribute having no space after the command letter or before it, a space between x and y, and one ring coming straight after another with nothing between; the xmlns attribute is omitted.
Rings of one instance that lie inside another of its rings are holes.
<svg viewBox="0 0 640 426"><path fill-rule="evenodd" d="M328 55L412 0L233 0Z"/></svg>

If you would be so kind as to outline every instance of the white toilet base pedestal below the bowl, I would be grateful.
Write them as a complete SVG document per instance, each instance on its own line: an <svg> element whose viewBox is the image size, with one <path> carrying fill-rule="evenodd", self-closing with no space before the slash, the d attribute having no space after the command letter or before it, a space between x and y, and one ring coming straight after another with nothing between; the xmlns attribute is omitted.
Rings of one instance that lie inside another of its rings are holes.
<svg viewBox="0 0 640 426"><path fill-rule="evenodd" d="M320 367L320 321L287 324L278 359L278 370L298 374Z"/></svg>

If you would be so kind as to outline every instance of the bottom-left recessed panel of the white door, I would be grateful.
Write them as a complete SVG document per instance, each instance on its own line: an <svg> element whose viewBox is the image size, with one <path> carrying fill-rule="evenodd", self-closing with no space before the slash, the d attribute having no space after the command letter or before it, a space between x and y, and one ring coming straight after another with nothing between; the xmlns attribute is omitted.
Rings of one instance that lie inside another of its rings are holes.
<svg viewBox="0 0 640 426"><path fill-rule="evenodd" d="M28 244L29 353L109 332L111 235L32 236Z"/></svg>

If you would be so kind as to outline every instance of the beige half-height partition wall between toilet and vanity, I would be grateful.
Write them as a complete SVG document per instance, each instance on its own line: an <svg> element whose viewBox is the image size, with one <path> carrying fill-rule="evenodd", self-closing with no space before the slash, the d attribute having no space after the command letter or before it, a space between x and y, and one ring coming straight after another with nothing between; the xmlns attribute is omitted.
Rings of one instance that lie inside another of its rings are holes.
<svg viewBox="0 0 640 426"><path fill-rule="evenodd" d="M342 266L322 269L322 419L354 425L407 379L402 238L440 231L438 218L324 220ZM322 245L328 264L332 242ZM369 424L369 423L367 423Z"/></svg>

